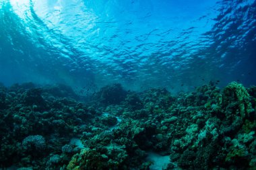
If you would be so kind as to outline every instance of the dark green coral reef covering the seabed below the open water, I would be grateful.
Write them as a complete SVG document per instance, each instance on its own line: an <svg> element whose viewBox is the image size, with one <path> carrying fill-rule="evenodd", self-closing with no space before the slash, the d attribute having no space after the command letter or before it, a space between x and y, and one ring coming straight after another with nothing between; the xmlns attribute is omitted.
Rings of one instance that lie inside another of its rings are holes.
<svg viewBox="0 0 256 170"><path fill-rule="evenodd" d="M91 99L0 85L0 169L256 169L255 86L174 95L114 84Z"/></svg>

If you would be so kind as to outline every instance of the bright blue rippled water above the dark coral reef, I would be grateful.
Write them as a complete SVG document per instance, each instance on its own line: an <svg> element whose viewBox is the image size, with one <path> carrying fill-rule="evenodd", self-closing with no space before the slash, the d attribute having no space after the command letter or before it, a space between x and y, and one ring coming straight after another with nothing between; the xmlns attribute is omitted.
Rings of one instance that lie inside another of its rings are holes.
<svg viewBox="0 0 256 170"><path fill-rule="evenodd" d="M1 0L0 81L256 84L256 1Z"/></svg>

